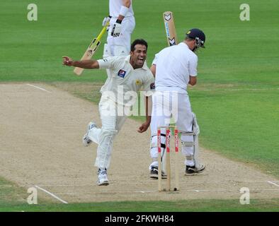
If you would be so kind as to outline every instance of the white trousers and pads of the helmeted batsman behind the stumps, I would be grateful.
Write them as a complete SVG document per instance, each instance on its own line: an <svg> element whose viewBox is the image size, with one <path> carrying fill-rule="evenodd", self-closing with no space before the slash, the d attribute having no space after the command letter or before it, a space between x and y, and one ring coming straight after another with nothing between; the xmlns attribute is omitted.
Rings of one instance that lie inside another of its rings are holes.
<svg viewBox="0 0 279 226"><path fill-rule="evenodd" d="M178 93L176 91L156 91L152 96L152 146L150 155L152 159L158 157L158 148L154 147L157 144L157 129L158 126L169 126L170 123L176 123L178 131L192 132L193 131L193 112L190 107L188 94ZM161 134L166 134L166 129L161 129ZM165 144L165 136L161 136L161 143ZM183 136L181 141L193 142L193 136ZM174 141L173 141L174 143ZM185 156L193 156L193 147L182 147L182 153ZM194 165L193 160L186 160L185 165Z"/></svg>

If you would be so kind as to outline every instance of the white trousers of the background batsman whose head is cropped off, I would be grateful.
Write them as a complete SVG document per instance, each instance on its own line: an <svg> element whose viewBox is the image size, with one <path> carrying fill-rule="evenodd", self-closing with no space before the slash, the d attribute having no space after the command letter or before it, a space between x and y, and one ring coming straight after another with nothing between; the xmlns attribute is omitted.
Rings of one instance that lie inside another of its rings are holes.
<svg viewBox="0 0 279 226"><path fill-rule="evenodd" d="M117 18L110 19L110 28L108 30L108 48L110 56L127 56L130 53L131 35L135 29L135 17L125 17L121 23L121 32L118 37L111 36L113 24Z"/></svg>

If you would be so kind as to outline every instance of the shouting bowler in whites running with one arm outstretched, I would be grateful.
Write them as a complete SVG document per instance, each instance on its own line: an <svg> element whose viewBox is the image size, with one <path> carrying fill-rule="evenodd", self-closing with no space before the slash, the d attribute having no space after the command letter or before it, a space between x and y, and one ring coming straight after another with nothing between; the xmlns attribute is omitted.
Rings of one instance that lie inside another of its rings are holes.
<svg viewBox="0 0 279 226"><path fill-rule="evenodd" d="M85 146L90 145L92 141L98 144L95 161L95 166L98 167L98 185L108 185L107 169L110 166L113 140L130 114L130 108L137 98L137 91L144 90L147 99L152 99L148 96L152 95L154 76L145 61L147 42L135 40L131 44L130 55L124 57L84 61L63 58L63 64L67 66L109 70L106 83L101 88L102 96L98 105L102 127L98 128L91 121L82 140ZM148 115L148 109L146 116L147 121L139 126L139 133L149 128L151 116Z"/></svg>

